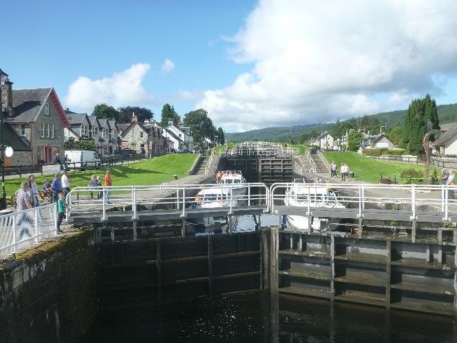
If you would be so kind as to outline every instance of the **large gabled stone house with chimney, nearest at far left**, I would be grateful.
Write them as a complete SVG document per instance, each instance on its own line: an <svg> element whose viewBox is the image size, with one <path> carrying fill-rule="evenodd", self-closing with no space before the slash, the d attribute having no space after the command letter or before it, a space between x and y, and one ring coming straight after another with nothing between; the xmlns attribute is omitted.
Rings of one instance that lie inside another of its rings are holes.
<svg viewBox="0 0 457 343"><path fill-rule="evenodd" d="M64 154L64 127L70 127L53 88L12 89L2 87L5 119L31 148L23 165L49 164L57 153Z"/></svg>

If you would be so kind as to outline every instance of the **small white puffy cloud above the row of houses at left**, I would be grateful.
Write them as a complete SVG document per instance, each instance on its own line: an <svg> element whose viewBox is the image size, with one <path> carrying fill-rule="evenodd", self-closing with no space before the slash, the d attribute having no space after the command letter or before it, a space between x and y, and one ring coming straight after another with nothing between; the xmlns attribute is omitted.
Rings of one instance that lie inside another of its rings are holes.
<svg viewBox="0 0 457 343"><path fill-rule="evenodd" d="M99 103L114 107L150 103L152 97L141 85L149 69L149 64L138 63L125 71L113 73L110 78L91 80L80 76L69 86L65 105L89 111Z"/></svg>

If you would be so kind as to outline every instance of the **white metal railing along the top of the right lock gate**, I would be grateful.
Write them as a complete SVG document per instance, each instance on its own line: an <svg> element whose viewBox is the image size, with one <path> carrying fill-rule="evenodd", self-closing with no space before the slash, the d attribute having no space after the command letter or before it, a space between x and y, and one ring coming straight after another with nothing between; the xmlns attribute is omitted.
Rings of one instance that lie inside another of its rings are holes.
<svg viewBox="0 0 457 343"><path fill-rule="evenodd" d="M457 186L445 185L398 185L398 184L294 184L276 183L270 188L271 212L275 206L287 206L287 191L294 187L301 188L301 193L307 195L307 201L303 207L310 213L311 207L316 207L314 199L322 195L322 188L332 188L339 196L337 200L351 209L357 209L358 216L363 217L368 204L377 204L379 208L385 208L386 204L402 206L402 210L410 211L410 219L417 219L418 211L441 213L443 221L449 221L449 212L457 212L457 200L454 199L454 191ZM319 189L320 188L320 189ZM317 205L319 206L319 205Z"/></svg>

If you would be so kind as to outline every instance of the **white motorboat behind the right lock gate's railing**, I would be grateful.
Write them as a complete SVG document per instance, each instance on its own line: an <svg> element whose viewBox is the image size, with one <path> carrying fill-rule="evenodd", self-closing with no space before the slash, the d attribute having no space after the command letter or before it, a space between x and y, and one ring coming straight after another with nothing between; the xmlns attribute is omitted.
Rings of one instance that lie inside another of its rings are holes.
<svg viewBox="0 0 457 343"><path fill-rule="evenodd" d="M317 180L294 179L294 185L286 190L284 197L286 206L296 207L327 207L344 209L341 199L327 186ZM305 210L304 210L305 211ZM322 230L329 225L339 223L336 219L306 217L306 216L287 216L287 225L292 229L312 231L313 229Z"/></svg>

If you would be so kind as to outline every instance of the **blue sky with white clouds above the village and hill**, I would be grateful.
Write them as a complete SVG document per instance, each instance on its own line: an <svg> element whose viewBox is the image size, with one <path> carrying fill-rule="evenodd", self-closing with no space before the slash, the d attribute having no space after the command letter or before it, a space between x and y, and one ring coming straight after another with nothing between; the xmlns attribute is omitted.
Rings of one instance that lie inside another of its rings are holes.
<svg viewBox="0 0 457 343"><path fill-rule="evenodd" d="M457 2L15 0L0 68L64 107L204 108L216 127L332 123L457 103Z"/></svg>

